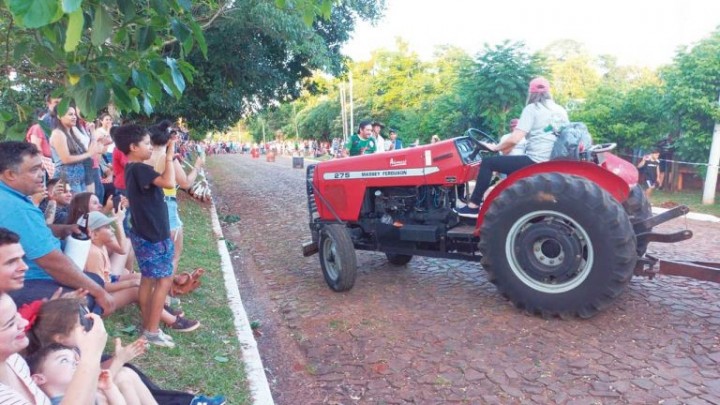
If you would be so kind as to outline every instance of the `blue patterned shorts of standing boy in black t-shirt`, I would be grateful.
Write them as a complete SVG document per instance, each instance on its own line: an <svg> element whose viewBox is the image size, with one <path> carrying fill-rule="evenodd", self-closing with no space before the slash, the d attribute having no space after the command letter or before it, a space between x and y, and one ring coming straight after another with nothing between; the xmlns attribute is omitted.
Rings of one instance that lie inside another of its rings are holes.
<svg viewBox="0 0 720 405"><path fill-rule="evenodd" d="M145 278L166 278L173 273L173 255L175 244L167 238L160 242L150 242L130 230L128 232L137 257L140 274Z"/></svg>

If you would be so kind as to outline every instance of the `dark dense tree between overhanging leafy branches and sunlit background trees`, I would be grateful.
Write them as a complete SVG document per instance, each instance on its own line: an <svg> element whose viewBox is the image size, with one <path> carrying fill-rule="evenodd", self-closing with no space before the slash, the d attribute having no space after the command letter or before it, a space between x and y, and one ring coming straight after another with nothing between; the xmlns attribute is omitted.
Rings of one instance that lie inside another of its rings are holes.
<svg viewBox="0 0 720 405"><path fill-rule="evenodd" d="M341 74L340 46L357 16L375 19L383 2L353 0L333 7L328 19L307 25L299 10L278 9L272 1L246 0L205 32L210 57L188 55L194 83L181 99L166 99L160 116L182 116L195 133L223 130L247 114L303 90L322 92L314 71ZM175 47L176 53L182 51Z"/></svg>

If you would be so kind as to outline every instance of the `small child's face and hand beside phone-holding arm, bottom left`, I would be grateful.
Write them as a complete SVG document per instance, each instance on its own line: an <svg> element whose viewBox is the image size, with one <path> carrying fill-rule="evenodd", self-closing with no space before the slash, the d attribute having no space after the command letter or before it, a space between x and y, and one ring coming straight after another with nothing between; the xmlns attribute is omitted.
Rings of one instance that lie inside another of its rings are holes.
<svg viewBox="0 0 720 405"><path fill-rule="evenodd" d="M33 353L27 362L35 384L50 397L50 402L59 404L72 383L80 363L80 354L71 347L53 343ZM100 371L98 396L102 397L102 403L108 405L126 404L109 370Z"/></svg>

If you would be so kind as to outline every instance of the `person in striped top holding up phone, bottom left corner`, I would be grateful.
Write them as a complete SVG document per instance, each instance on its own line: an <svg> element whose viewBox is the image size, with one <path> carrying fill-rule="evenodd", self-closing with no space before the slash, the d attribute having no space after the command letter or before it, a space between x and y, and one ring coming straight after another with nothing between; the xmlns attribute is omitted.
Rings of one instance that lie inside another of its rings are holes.
<svg viewBox="0 0 720 405"><path fill-rule="evenodd" d="M28 144L35 147L32 144ZM79 342L82 358L78 362L75 374L59 403L62 405L90 405L95 403L98 375L100 374L100 356L107 341L107 333L102 319L88 314L93 326ZM73 314L78 319L77 310ZM28 321L17 312L15 303L5 292L0 292L0 403L19 405L50 405L47 395L40 390L30 377L25 360L20 356L29 340L25 334Z"/></svg>

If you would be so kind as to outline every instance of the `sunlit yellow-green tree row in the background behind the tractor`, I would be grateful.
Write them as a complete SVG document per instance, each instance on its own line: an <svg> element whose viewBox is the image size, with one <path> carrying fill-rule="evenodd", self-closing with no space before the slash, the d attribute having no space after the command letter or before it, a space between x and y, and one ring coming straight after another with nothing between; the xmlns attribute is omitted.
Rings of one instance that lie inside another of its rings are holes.
<svg viewBox="0 0 720 405"><path fill-rule="evenodd" d="M593 57L582 44L560 41L541 53L522 43L487 45L475 58L451 47L423 61L399 41L396 49L377 50L353 62L355 121L371 118L399 129L406 143L427 142L479 127L500 135L509 118L522 110L528 81L547 75L552 93L572 121L583 121L597 142L617 142L621 153L648 150L668 134L676 135L676 157L707 160L713 124L720 119L720 30L678 51L659 70L622 66L611 55ZM336 78L321 101L308 96L299 115L300 136L340 136ZM333 116L333 114L337 114ZM282 127L283 119L270 125ZM322 117L320 119L319 117ZM251 119L252 121L252 119ZM353 128L354 130L354 128Z"/></svg>

